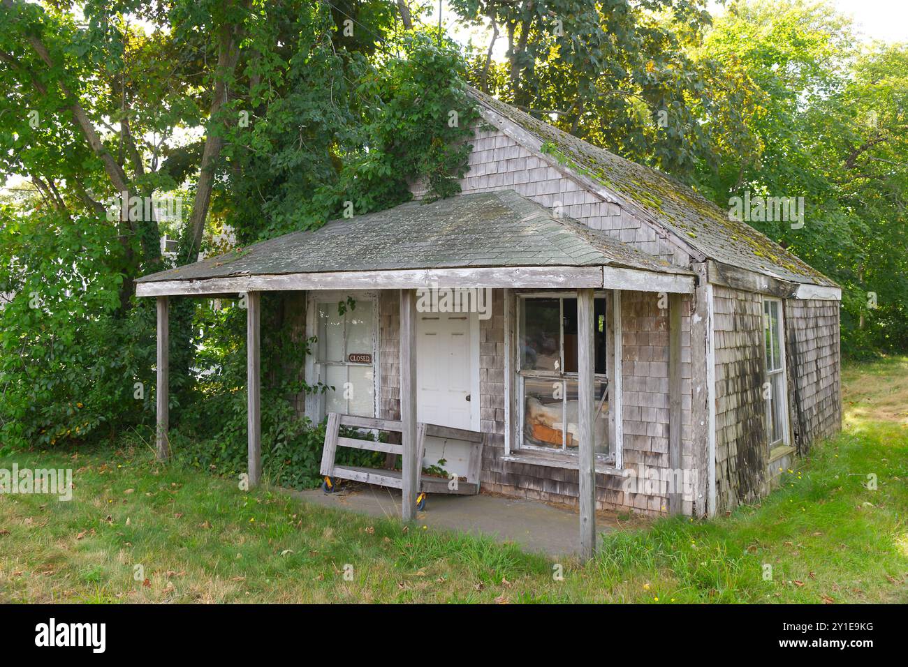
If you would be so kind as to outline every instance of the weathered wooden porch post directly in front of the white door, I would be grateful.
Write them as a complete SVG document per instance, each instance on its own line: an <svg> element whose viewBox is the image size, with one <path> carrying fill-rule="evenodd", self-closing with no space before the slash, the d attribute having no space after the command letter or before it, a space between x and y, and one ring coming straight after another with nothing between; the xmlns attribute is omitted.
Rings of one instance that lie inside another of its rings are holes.
<svg viewBox="0 0 908 667"><path fill-rule="evenodd" d="M401 517L416 518L419 480L416 434L416 293L400 290L400 442L403 445Z"/></svg>

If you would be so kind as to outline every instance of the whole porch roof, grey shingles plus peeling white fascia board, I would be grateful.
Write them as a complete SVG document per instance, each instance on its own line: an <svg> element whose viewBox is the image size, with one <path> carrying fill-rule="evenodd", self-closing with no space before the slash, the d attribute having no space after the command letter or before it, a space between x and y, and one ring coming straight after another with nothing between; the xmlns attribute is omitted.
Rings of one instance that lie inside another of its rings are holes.
<svg viewBox="0 0 908 667"><path fill-rule="evenodd" d="M689 270L577 221L556 218L514 191L496 191L411 201L330 221L314 231L293 232L144 276L136 293L351 289L370 281L381 287L391 280L388 274L395 278L386 286L399 288L432 280L450 285L472 280L477 287L617 287L603 282L603 267L633 271L640 284L662 276L693 285ZM330 284L322 280L326 276L331 276Z"/></svg>

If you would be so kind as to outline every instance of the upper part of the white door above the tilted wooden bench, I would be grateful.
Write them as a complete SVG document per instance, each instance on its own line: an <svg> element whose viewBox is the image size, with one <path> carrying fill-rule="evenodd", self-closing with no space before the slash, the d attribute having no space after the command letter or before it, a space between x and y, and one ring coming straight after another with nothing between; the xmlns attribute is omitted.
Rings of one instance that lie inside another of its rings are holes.
<svg viewBox="0 0 908 667"><path fill-rule="evenodd" d="M418 313L417 419L479 430L479 319L476 313Z"/></svg>

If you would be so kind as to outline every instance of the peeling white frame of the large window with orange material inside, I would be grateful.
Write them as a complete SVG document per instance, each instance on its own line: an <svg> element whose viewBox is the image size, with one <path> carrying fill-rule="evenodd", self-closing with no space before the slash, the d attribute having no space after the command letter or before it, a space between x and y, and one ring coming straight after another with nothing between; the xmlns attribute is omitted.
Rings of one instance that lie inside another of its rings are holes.
<svg viewBox="0 0 908 667"><path fill-rule="evenodd" d="M545 454L548 456L553 456L559 459L568 459L576 460L578 456L577 451L571 451L568 449L567 444L564 442L565 438L562 437L562 446L561 448L555 447L545 447L538 445L530 445L525 441L525 413L526 413L526 394L525 394L525 378L533 379L542 379L550 380L552 382L560 381L565 390L562 392L562 425L563 428L567 427L567 419L565 418L565 409L567 407L567 386L568 382L579 382L579 374L577 372L567 372L567 371L547 371L547 370L525 370L522 368L523 364L523 354L520 348L520 335L522 329L520 327L521 322L523 321L523 304L526 299L558 299L558 315L560 326L558 328L558 366L559 368L565 368L565 350L564 350L564 299L577 299L577 292L574 290L558 290L550 292L517 292L513 295L513 298L516 300L514 313L515 321L513 323L514 327L514 342L516 349L513 350L512 355L514 358L514 373L513 381L515 383L515 404L517 407L517 419L515 424L515 436L513 438L514 446L513 449L508 447L508 455L519 455L520 453L532 453L534 455ZM605 299L606 300L606 314L603 321L603 333L607 338L606 348L609 348L608 337L609 337L609 326L608 326L608 317L612 311L612 299L609 297L608 290L595 290L593 292L593 299ZM611 364L608 361L607 357L607 371L611 370ZM607 385L607 391L609 392L609 406L608 410L612 409L614 404L614 397L611 397L612 391L612 381L609 378L608 372L606 373L595 373L593 376L594 383L605 382ZM606 413L606 418L610 420L608 413ZM563 431L562 431L563 433ZM611 427L607 431L607 444L610 448L615 447L612 443L612 434ZM616 447L617 448L617 447ZM611 466L617 461L617 452L611 453L595 453L596 461L598 464Z"/></svg>

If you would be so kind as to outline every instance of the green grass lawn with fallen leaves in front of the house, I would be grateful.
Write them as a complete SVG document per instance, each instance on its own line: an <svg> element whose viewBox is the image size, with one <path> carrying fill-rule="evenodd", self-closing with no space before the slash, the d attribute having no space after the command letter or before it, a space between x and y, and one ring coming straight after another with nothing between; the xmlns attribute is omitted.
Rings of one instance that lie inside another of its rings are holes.
<svg viewBox="0 0 908 667"><path fill-rule="evenodd" d="M761 505L618 531L563 577L513 545L244 493L141 446L0 456L74 470L71 502L0 495L0 602L905 603L908 358L844 384L844 433Z"/></svg>

